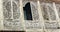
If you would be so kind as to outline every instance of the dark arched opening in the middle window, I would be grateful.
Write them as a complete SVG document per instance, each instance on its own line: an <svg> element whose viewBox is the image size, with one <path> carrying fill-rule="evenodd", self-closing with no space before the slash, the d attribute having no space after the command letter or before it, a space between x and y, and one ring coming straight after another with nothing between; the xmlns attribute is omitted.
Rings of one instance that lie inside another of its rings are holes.
<svg viewBox="0 0 60 32"><path fill-rule="evenodd" d="M25 7L23 7L23 10L24 10L24 18L25 18L25 20L33 20L32 19L30 2L28 2L25 5Z"/></svg>

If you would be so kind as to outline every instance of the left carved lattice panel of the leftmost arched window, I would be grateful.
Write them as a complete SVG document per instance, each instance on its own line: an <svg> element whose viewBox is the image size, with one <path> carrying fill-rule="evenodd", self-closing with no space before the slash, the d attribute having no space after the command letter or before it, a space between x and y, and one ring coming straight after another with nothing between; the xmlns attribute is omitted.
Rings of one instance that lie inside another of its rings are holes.
<svg viewBox="0 0 60 32"><path fill-rule="evenodd" d="M6 3L4 2L3 3L3 9L5 10L5 11L3 11L3 13L4 13L4 18L11 18L11 16L12 16L12 14L11 14L11 2L9 1L9 2L7 2L6 1Z"/></svg>

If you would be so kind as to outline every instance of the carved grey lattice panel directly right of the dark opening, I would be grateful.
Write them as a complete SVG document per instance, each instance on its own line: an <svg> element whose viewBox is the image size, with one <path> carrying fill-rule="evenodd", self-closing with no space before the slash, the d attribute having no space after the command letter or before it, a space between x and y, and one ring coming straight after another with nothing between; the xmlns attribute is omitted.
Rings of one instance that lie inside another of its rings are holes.
<svg viewBox="0 0 60 32"><path fill-rule="evenodd" d="M32 11L33 19L39 20L38 8L36 8L36 7L38 7L37 3L31 2L31 11Z"/></svg>

